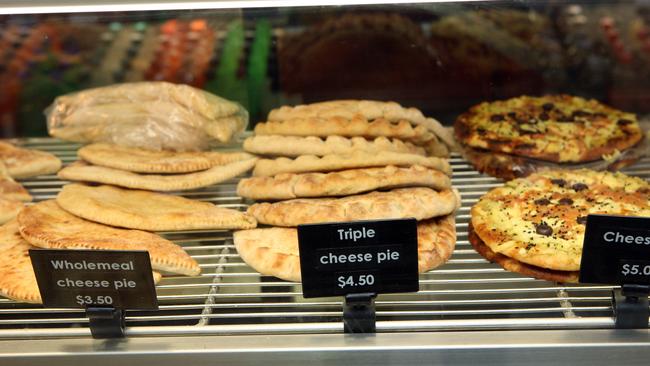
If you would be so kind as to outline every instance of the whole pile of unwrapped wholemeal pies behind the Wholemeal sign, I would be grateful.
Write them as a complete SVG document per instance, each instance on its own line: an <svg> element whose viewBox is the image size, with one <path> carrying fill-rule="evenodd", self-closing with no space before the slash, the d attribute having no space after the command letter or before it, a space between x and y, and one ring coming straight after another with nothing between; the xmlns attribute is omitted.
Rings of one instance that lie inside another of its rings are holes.
<svg viewBox="0 0 650 366"><path fill-rule="evenodd" d="M201 272L199 264L182 247L151 231L250 229L257 225L244 212L151 191L198 188L230 179L253 167L256 158L250 154L179 153L94 144L80 149L79 156L84 161L66 167L60 177L116 186L72 183L62 188L56 200L15 208L17 220L0 228L0 239L6 239L0 244L0 295L41 301L28 256L30 248L146 250L154 270L196 276ZM9 176L5 181L13 182ZM7 194L31 199L26 192L10 188L0 185Z"/></svg>

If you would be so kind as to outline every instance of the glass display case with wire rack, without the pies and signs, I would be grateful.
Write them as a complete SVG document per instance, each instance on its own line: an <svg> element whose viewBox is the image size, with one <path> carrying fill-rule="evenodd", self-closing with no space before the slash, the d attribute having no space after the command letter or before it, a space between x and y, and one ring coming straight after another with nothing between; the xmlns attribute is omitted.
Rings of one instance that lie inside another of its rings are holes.
<svg viewBox="0 0 650 366"><path fill-rule="evenodd" d="M243 106L247 131L218 144L221 152L241 150L281 106L395 101L451 134L481 102L567 94L636 116L634 156L608 167L650 180L650 4L304 5L0 0L0 136L71 165L82 144L48 135L48 106L64 94L143 81L187 84ZM258 273L231 230L163 230L202 273L163 277L159 310L128 311L126 338L93 340L83 309L0 296L0 363L646 364L648 327L614 329L616 286L535 279L476 252L471 208L504 182L479 172L465 151L446 149L460 193L455 249L420 274L419 292L377 297L376 334L343 334L341 297L305 299L299 282ZM238 194L245 177L171 194L243 212L254 203ZM54 173L18 181L32 203L69 183Z"/></svg>

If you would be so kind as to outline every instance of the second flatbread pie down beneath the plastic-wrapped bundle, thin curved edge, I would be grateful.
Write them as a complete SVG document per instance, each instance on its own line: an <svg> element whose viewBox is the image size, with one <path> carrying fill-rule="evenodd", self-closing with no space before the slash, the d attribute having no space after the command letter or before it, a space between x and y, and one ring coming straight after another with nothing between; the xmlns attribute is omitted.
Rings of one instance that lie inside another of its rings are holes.
<svg viewBox="0 0 650 366"><path fill-rule="evenodd" d="M183 191L207 187L234 178L253 168L256 161L257 158L251 158L226 165L216 165L195 173L164 175L138 174L77 161L61 169L58 176L72 181L112 184L149 191Z"/></svg>

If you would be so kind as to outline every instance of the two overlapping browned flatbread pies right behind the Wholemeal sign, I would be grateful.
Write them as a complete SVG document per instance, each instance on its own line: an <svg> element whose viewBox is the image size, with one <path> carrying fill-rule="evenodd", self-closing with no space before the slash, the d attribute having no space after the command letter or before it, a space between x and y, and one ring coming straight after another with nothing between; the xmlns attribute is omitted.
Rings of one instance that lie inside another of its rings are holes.
<svg viewBox="0 0 650 366"><path fill-rule="evenodd" d="M154 271L187 276L201 273L199 264L180 246L154 233L127 230L84 220L55 201L23 208L0 226L0 296L41 303L29 258L30 249L146 250ZM158 282L160 273L154 272Z"/></svg>

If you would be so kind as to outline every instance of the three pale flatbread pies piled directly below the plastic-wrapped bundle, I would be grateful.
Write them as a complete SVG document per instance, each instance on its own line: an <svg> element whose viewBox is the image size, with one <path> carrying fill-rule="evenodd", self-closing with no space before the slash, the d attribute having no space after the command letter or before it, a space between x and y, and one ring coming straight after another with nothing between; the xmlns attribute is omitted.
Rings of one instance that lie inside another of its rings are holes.
<svg viewBox="0 0 650 366"><path fill-rule="evenodd" d="M250 154L150 151L100 143L82 147L78 155L83 160L61 170L61 178L109 185L64 186L56 201L77 217L148 231L257 225L243 212L152 192L199 188L233 178L253 167L257 158Z"/></svg>

